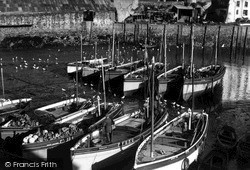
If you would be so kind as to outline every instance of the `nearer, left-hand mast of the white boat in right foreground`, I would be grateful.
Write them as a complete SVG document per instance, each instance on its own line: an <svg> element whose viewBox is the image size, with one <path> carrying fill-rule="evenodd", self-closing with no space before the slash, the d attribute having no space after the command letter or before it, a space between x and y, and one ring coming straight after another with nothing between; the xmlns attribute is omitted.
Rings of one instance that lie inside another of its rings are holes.
<svg viewBox="0 0 250 170"><path fill-rule="evenodd" d="M154 68L155 68L155 58L152 59L152 96L151 96L151 105L152 105L152 115L151 115L151 147L150 147L150 156L154 157L154 148L153 148L153 139L154 139Z"/></svg>

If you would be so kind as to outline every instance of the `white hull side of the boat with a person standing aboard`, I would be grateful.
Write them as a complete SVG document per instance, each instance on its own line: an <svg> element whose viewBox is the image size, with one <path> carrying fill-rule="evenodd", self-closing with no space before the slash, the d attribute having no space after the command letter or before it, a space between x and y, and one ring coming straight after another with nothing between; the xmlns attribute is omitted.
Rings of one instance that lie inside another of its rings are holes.
<svg viewBox="0 0 250 170"><path fill-rule="evenodd" d="M168 115L163 115L155 124L157 129L163 122L167 120ZM91 170L93 167L101 167L105 165L110 167L117 162L124 160L126 157L131 158L136 152L136 148L144 137L150 135L151 128L146 129L141 134L121 141L119 143L101 146L96 149L71 150L72 165L75 170Z"/></svg>

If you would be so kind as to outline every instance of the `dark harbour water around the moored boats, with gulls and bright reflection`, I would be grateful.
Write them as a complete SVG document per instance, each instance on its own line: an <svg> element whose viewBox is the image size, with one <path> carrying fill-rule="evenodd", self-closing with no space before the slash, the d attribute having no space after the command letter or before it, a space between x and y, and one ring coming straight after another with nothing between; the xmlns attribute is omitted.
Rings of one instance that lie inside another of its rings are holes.
<svg viewBox="0 0 250 170"><path fill-rule="evenodd" d="M97 58L102 56L111 59L111 50L109 48L110 46L108 45L99 45ZM176 48L176 46L172 46L167 52L169 68L182 63L182 47L179 46L177 50ZM190 63L190 51L188 49L189 47L186 46L185 64ZM149 59L155 56L156 60L159 61L159 54L160 48L152 48L149 50ZM202 48L195 48L194 64L196 68L201 67L203 63L204 65L209 65L214 62L214 50L212 48L205 49L204 61L202 61L201 54ZM83 57L87 59L94 58L94 46L84 46ZM120 44L119 55L116 51L115 57L117 57L116 60L118 62L126 63L131 60L131 57L133 57L133 60L143 59L144 52L133 45ZM66 64L80 60L79 46L54 46L42 49L20 49L13 51L1 50L0 58L5 75L5 95L10 98L17 96L33 97L33 107L38 107L52 103L58 100L58 97L65 97L61 88L67 89L69 91L68 95L74 93L74 90L72 90L74 81L66 74ZM162 59L162 61L164 60ZM213 96L207 95L202 102L201 100L196 102L196 107L205 109L208 112L213 111L209 113L210 126L205 153L214 147L216 133L225 124L235 128L238 137L250 132L250 51L247 50L246 56L243 56L237 50L230 55L228 48L221 47L218 53L218 63L226 66L226 73L223 77L222 86L217 90L216 94L214 93L216 99ZM88 98L98 94L94 86L82 84L80 95ZM108 100L120 100L122 94L119 91L112 92L112 85L109 87ZM54 97L53 94L55 94ZM46 101L43 101L43 99L46 99ZM131 105L134 108L139 107L141 99L138 96L125 98L125 107ZM58 152L60 152L59 149ZM65 153L69 154L68 151L65 151ZM66 157L68 158L68 156ZM123 160L122 164L115 164L112 168L131 169L132 165L133 158ZM68 167L66 168L66 166ZM193 169L196 169L195 167L191 166ZM69 168L70 163L65 163L65 169ZM232 156L228 168L230 170L241 170L244 168L250 169L250 166L238 163L236 157Z"/></svg>

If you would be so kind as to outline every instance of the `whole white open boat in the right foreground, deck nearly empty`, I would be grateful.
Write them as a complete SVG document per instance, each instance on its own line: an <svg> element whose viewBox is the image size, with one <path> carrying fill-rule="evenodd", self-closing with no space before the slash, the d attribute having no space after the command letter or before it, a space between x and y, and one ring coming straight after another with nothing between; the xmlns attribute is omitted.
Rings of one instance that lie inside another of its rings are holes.
<svg viewBox="0 0 250 170"><path fill-rule="evenodd" d="M208 115L189 110L165 122L138 147L134 169L188 169L201 153Z"/></svg>

